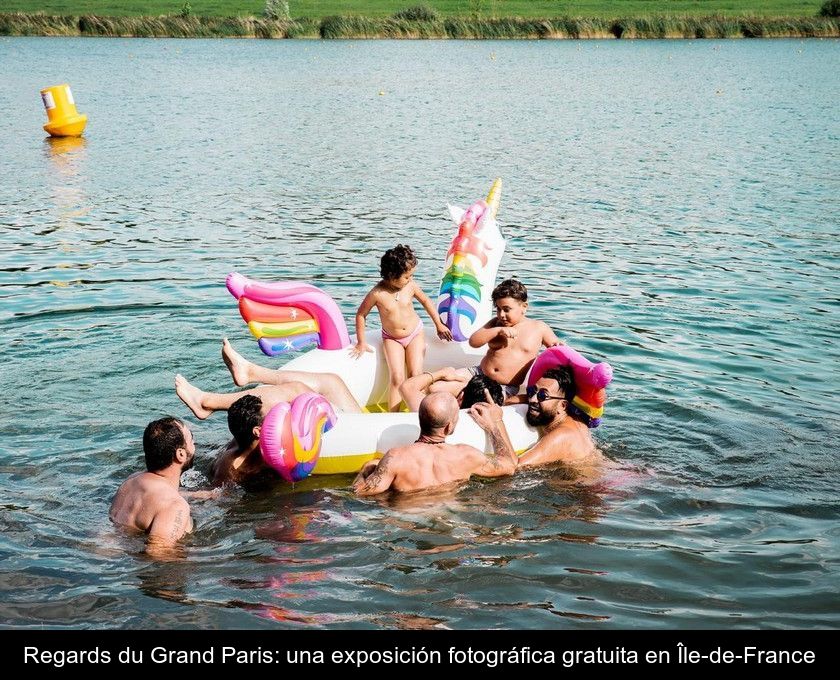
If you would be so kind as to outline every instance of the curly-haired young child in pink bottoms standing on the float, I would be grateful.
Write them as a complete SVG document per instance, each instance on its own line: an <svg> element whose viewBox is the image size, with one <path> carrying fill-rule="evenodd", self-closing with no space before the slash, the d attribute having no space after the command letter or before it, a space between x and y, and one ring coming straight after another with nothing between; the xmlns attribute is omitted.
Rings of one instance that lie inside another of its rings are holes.
<svg viewBox="0 0 840 680"><path fill-rule="evenodd" d="M398 411L402 397L400 385L406 378L423 372L423 356L426 353L426 339L423 337L423 322L414 311L414 298L435 324L441 340L451 340L452 332L443 325L432 301L414 282L417 257L408 246L398 245L382 256L379 271L382 280L377 283L356 312L356 345L350 353L358 358L373 348L365 342L365 318L371 309L379 310L382 321L382 347L391 373L388 389L388 409ZM406 376L406 364L408 376Z"/></svg>

